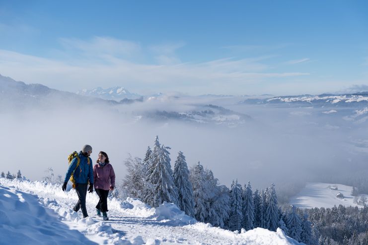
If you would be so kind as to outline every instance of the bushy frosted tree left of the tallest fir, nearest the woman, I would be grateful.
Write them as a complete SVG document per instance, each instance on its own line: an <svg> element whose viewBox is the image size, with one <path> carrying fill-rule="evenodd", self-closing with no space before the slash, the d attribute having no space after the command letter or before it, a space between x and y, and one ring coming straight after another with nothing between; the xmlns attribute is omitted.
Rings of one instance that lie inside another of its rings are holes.
<svg viewBox="0 0 368 245"><path fill-rule="evenodd" d="M124 162L127 167L128 174L123 180L123 188L129 195L129 197L143 198L145 194L147 168L142 163L142 160L138 157L129 157Z"/></svg>

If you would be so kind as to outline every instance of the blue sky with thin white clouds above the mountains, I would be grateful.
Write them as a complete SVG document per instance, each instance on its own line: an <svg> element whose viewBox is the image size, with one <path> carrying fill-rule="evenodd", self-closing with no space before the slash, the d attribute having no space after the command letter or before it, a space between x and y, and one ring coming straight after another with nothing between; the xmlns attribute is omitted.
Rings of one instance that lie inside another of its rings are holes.
<svg viewBox="0 0 368 245"><path fill-rule="evenodd" d="M339 0L0 0L0 74L72 92L343 91L368 85L367 12Z"/></svg>

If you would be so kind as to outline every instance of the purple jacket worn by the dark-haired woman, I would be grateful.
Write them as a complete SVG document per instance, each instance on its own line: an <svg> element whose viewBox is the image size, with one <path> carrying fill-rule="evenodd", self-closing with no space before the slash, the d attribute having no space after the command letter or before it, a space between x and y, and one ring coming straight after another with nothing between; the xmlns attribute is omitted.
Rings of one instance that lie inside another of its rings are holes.
<svg viewBox="0 0 368 245"><path fill-rule="evenodd" d="M101 167L98 163L93 166L94 188L110 189L115 186L115 172L112 165L107 163Z"/></svg>

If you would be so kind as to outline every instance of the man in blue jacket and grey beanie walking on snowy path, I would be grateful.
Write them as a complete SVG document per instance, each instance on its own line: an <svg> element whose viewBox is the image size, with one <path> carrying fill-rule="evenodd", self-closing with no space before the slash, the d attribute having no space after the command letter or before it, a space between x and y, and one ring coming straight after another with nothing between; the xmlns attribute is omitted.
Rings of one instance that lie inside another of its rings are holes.
<svg viewBox="0 0 368 245"><path fill-rule="evenodd" d="M85 196L87 195L87 185L89 181L88 191L93 192L93 167L92 160L89 157L92 153L92 147L90 145L84 145L82 150L78 153L79 165L77 165L77 158L74 157L67 174L65 175L65 180L63 184L63 191L67 189L68 181L74 172L75 180L75 191L78 195L78 202L75 204L73 210L78 212L79 209L82 210L83 218L88 217L87 209L85 207Z"/></svg>

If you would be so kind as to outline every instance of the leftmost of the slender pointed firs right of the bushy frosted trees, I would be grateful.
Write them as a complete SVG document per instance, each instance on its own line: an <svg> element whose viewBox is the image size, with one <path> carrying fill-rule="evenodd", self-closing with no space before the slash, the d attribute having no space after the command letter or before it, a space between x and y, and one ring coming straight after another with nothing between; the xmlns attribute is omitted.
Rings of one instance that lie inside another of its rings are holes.
<svg viewBox="0 0 368 245"><path fill-rule="evenodd" d="M228 229L231 231L240 231L243 223L241 185L238 180L231 184L230 190L230 212L228 219Z"/></svg>

